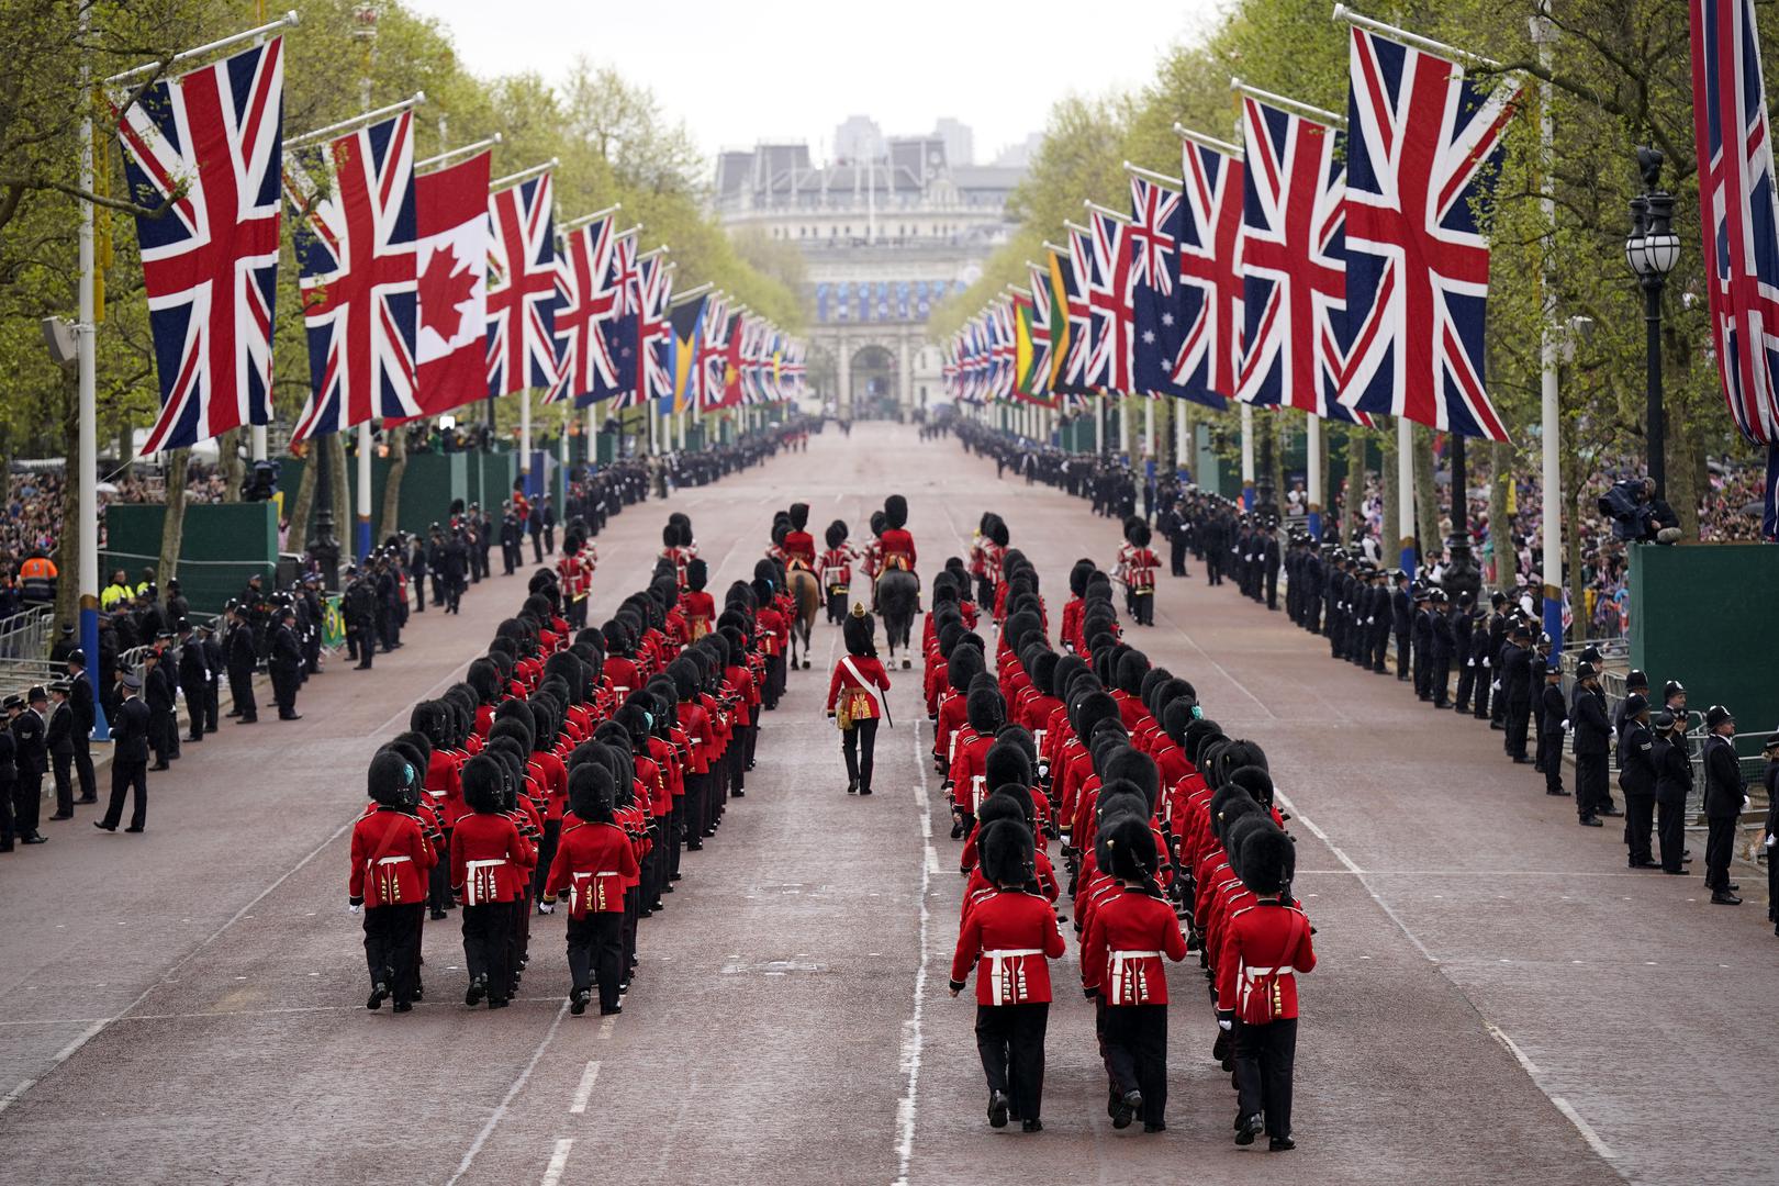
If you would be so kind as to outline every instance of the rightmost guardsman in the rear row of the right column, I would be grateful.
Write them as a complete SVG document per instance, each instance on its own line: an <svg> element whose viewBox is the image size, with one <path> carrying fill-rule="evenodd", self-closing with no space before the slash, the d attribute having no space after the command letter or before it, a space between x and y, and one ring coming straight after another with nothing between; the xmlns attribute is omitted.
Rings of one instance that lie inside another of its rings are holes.
<svg viewBox="0 0 1779 1186"><path fill-rule="evenodd" d="M1286 893L1297 871L1292 837L1279 829L1252 832L1242 845L1242 882L1258 902L1224 926L1217 958L1217 1024L1235 1037L1235 1081L1242 1127L1251 1145L1261 1127L1268 1152L1292 1140L1292 1067L1297 1058L1297 976L1316 966L1309 919Z"/></svg>

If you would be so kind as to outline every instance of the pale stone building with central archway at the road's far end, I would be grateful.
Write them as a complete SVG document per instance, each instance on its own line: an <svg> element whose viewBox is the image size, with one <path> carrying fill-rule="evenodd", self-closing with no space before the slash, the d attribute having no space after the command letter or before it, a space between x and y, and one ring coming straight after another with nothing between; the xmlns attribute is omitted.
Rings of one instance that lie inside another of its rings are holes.
<svg viewBox="0 0 1779 1186"><path fill-rule="evenodd" d="M927 318L1007 242L1007 197L1025 174L959 164L954 148L968 160L970 140L955 119L927 135L884 137L875 121L852 116L822 165L802 142L717 156L724 226L802 252L809 384L841 414L904 414L939 398Z"/></svg>

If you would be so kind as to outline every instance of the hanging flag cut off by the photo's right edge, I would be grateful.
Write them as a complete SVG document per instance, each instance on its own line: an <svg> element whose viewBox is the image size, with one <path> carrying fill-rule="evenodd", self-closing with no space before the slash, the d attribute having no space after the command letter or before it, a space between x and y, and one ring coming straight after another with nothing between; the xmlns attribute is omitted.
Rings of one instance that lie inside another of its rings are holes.
<svg viewBox="0 0 1779 1186"><path fill-rule="evenodd" d="M1761 535L1779 539L1779 194L1754 5L1692 0L1699 222L1711 341L1736 429L1767 446Z"/></svg>

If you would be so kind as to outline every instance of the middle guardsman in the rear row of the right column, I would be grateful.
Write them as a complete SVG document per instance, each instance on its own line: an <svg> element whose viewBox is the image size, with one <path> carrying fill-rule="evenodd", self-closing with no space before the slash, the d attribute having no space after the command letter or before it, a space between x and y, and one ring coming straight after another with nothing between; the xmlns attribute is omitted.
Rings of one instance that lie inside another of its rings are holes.
<svg viewBox="0 0 1779 1186"><path fill-rule="evenodd" d="M1082 985L1105 1008L1103 1049L1112 1074L1112 1127L1142 1115L1144 1133L1167 1127L1167 971L1187 958L1187 937L1155 875L1160 859L1149 820L1103 820L1099 868L1123 884L1099 902L1082 946Z"/></svg>

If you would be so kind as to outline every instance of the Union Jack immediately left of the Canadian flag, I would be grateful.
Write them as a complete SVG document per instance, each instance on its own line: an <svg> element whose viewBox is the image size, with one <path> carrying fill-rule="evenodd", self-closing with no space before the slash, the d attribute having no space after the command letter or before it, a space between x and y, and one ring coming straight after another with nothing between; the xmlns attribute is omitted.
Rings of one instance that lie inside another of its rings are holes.
<svg viewBox="0 0 1779 1186"><path fill-rule="evenodd" d="M294 155L286 171L292 203L308 206L295 249L310 338L310 398L290 439L420 416L413 112Z"/></svg>

